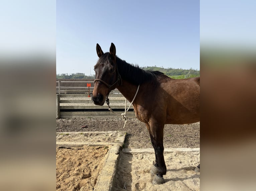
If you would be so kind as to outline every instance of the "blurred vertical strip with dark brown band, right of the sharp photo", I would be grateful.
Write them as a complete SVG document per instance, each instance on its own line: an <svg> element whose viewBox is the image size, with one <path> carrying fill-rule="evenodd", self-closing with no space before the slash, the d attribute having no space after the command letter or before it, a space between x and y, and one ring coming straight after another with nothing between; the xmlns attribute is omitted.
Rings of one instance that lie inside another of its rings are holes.
<svg viewBox="0 0 256 191"><path fill-rule="evenodd" d="M201 190L254 190L254 1L200 1Z"/></svg>

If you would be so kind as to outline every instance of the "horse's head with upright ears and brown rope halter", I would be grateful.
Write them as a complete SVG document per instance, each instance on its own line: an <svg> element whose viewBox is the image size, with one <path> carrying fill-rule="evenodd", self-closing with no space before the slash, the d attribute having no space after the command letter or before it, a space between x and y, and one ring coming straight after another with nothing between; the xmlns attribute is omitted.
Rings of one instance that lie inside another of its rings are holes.
<svg viewBox="0 0 256 191"><path fill-rule="evenodd" d="M120 81L116 65L116 47L111 43L110 50L103 53L99 44L96 46L99 57L97 64L94 66L95 77L92 101L96 105L103 105L106 96L111 90L114 90Z"/></svg>

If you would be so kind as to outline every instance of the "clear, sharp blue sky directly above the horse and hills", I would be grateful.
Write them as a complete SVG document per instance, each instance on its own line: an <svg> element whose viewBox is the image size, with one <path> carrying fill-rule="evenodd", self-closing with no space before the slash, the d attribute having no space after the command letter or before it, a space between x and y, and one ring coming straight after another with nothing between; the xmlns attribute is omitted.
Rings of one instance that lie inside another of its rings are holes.
<svg viewBox="0 0 256 191"><path fill-rule="evenodd" d="M94 74L96 44L140 67L200 69L199 1L56 1L56 73Z"/></svg>

